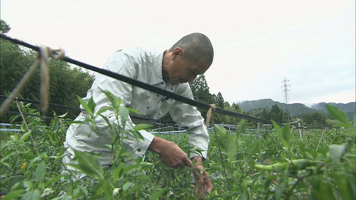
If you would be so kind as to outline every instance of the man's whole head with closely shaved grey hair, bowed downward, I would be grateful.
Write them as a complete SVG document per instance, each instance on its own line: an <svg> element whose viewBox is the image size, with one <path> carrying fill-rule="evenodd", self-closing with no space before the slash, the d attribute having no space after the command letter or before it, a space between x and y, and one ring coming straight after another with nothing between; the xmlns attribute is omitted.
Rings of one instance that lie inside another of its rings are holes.
<svg viewBox="0 0 356 200"><path fill-rule="evenodd" d="M201 33L184 36L164 53L162 73L173 85L192 82L213 62L214 50Z"/></svg>

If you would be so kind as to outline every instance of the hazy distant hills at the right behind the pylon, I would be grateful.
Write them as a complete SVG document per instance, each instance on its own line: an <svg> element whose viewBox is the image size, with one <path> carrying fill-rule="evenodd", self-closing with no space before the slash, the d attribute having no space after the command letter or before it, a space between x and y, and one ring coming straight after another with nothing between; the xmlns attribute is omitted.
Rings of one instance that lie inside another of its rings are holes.
<svg viewBox="0 0 356 200"><path fill-rule="evenodd" d="M291 103L288 104L288 109L291 117L296 117L302 114L308 114L311 112L321 112L324 114L328 114L328 110L325 107L326 102L319 102L317 104L313 104L308 107L302 103ZM355 116L355 104L356 102L348 102L348 103L335 103L329 102L328 104L339 107L341 110L346 112L347 116L350 120L353 120ZM246 100L243 102L238 102L237 105L244 112L260 112L264 108L271 108L273 105L278 105L283 111L286 110L286 104L283 102L274 101L271 99L263 99L263 100Z"/></svg>

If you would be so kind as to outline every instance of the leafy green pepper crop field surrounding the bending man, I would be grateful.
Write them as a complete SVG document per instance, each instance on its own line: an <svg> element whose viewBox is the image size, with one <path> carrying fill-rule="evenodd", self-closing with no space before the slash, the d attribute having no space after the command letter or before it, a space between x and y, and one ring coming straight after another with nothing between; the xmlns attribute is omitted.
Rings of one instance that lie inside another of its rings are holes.
<svg viewBox="0 0 356 200"><path fill-rule="evenodd" d="M21 105L21 110L39 115L29 105ZM304 130L302 140L299 131L288 126L275 125L261 140L244 134L244 120L232 134L216 126L216 133L209 132L204 161L213 189L204 199L355 199L355 127L342 120L341 112L332 111L340 127ZM93 154L77 152L73 167L88 176L75 179L61 173L71 121L54 115L47 124L40 117L16 116L13 121L22 122L23 132L1 132L2 199L198 199L189 167L166 167L152 152L125 164L128 155L120 137L112 141L117 159L111 167L101 167ZM192 150L187 134L157 136L172 140L184 152Z"/></svg>

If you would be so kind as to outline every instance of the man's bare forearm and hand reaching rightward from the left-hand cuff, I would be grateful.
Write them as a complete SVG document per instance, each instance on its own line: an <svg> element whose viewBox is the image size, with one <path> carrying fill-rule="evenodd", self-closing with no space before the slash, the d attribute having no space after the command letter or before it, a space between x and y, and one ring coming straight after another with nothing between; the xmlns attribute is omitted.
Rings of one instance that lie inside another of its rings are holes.
<svg viewBox="0 0 356 200"><path fill-rule="evenodd" d="M192 167L193 163L188 158L187 154L183 152L174 142L164 140L159 137L154 137L148 149L159 154L162 162L167 167Z"/></svg>

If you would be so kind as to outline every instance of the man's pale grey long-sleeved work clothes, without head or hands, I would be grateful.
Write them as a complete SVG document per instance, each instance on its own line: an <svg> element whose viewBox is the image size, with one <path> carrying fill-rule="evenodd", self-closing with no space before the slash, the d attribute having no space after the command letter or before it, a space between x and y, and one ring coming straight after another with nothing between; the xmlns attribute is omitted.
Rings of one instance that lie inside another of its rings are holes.
<svg viewBox="0 0 356 200"><path fill-rule="evenodd" d="M193 98L192 90L188 83L172 85L169 81L165 82L163 80L162 58L163 53L146 51L142 48L129 48L115 52L113 56L108 59L103 68L154 85L158 88L172 91L184 97ZM206 158L206 151L209 146L209 135L204 125L204 118L201 117L197 107L171 98L165 100L162 95L99 74L95 78L90 90L88 90L86 97L83 98L83 100L88 102L90 97L93 97L96 103L95 111L98 111L102 107L110 106L110 101L106 95L101 92L102 90L110 91L116 98L121 98L125 106L132 107L139 111L140 114L132 114L136 117L159 119L169 112L179 127L187 127L189 144L192 147L203 150L203 152L201 152L202 157ZM103 112L103 115L115 121L114 112L108 110ZM80 113L75 120L85 120L85 112ZM105 125L106 122L103 120L103 117L97 117L95 123L101 125L98 128L99 134L95 132L90 133L91 127L89 125L70 125L64 146L68 147L67 152L70 159L73 158L73 149L95 152L98 154L101 164L109 165L112 162L112 155L108 148L108 144L110 144L111 141L108 126ZM135 124L129 118L127 125L133 127ZM154 137L154 135L145 130L141 130L140 133L145 140L136 141L133 137L132 140L124 140L127 152L133 152L134 157L142 157ZM192 158L197 155L199 154L192 152L189 157Z"/></svg>

